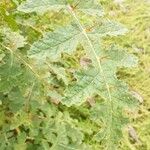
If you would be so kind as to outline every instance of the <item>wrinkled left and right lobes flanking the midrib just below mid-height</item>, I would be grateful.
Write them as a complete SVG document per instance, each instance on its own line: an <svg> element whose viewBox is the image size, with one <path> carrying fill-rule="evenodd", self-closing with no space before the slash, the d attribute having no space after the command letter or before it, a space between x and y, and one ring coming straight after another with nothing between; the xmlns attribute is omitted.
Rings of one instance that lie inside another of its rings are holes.
<svg viewBox="0 0 150 150"><path fill-rule="evenodd" d="M111 68L107 68L108 70ZM118 80L107 70L105 77L110 86L113 103L120 107L129 107L136 104L135 99L128 91L127 85ZM70 85L64 92L62 103L67 106L81 105L87 98L96 95L101 96L108 101L109 95L103 81L103 76L97 69L88 68L85 71L77 73L77 83Z"/></svg>

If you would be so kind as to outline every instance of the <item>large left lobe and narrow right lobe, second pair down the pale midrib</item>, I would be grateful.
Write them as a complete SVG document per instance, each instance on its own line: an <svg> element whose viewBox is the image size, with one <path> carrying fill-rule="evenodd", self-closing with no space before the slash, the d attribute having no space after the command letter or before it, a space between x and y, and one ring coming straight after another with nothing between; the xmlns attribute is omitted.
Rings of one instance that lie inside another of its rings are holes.
<svg viewBox="0 0 150 150"><path fill-rule="evenodd" d="M87 35L92 40L97 41L100 37L120 35L125 31L119 24L108 21L107 25L104 24L99 29L93 29ZM89 45L77 24L71 24L54 32L44 34L42 39L31 46L28 55L40 61L45 61L46 57L50 58L51 61L57 61L62 52L72 54L78 44L82 44L83 47Z"/></svg>

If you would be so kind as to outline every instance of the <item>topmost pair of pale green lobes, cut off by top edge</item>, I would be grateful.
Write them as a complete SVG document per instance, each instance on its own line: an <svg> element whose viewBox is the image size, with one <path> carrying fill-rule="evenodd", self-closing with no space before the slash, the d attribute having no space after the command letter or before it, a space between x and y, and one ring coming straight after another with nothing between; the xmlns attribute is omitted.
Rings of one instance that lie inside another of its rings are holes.
<svg viewBox="0 0 150 150"><path fill-rule="evenodd" d="M48 10L59 11L60 9L67 9L69 5L72 9L88 15L102 16L104 14L97 0L74 0L70 2L66 0L36 0L36 2L27 0L18 7L18 10L25 13L38 12L42 14Z"/></svg>

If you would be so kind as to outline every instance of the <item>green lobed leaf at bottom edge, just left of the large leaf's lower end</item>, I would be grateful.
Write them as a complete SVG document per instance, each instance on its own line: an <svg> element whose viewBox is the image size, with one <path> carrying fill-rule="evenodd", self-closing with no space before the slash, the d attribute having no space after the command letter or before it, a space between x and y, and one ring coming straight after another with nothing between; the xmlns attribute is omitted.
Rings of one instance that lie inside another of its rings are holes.
<svg viewBox="0 0 150 150"><path fill-rule="evenodd" d="M52 143L51 149L74 150L85 149L82 144L83 134L73 124L67 113L58 113L55 120L49 118L44 123L44 137ZM63 140L62 140L63 139Z"/></svg>

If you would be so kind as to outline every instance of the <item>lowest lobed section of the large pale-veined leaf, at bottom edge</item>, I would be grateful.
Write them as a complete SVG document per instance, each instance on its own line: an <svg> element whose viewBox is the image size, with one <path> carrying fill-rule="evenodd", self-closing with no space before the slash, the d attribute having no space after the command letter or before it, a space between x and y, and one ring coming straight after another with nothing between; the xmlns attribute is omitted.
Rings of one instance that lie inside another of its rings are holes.
<svg viewBox="0 0 150 150"><path fill-rule="evenodd" d="M123 116L122 109L113 105L113 112L110 114L110 107L107 103L95 105L91 109L91 119L97 123L102 123L102 129L94 135L98 142L102 141L105 149L117 149L122 136L122 128L128 123L128 119ZM109 142L108 142L109 141Z"/></svg>

